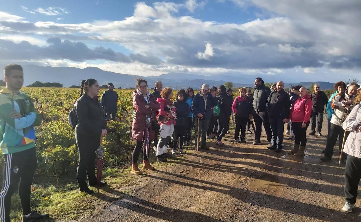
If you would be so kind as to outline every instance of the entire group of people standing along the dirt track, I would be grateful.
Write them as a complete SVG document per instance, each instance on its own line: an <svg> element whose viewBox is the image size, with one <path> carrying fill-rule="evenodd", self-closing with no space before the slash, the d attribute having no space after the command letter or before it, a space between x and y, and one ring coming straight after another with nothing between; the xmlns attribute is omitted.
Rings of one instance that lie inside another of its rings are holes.
<svg viewBox="0 0 361 222"><path fill-rule="evenodd" d="M31 98L20 91L23 76L20 65L7 65L4 68L6 87L0 89L0 148L5 160L0 192L1 222L10 221L10 200L17 188L23 221L49 217L30 208L30 187L36 170L34 126L41 123L42 116L34 108ZM345 159L346 203L343 210L352 212L361 178L361 87L357 83L346 86L344 82L337 82L336 92L327 98L318 84L314 85L310 95L306 87L300 85L286 92L282 81L269 88L258 77L254 84L253 91L242 87L238 90L239 95L233 98L232 89L227 90L224 85L210 88L204 83L196 94L192 88L179 90L175 101L172 101L174 91L169 87L163 88L162 82L157 81L151 93L146 80L136 80L136 89L132 94L131 134L135 147L131 172L140 175L144 170L155 169L149 163L149 147L152 144L159 162L172 158L177 149L179 154L184 154L183 147L188 145L195 145L197 150L209 150L207 139L215 138L216 145L223 146L223 137L230 133L230 119L236 125L234 142L247 143L245 134L253 131L255 140L252 144L260 145L263 125L267 148L275 152L282 151L284 124L287 123L286 134L290 135L289 140L294 141L288 154L302 157L305 155L309 125L309 135L322 136L326 106L328 135L321 160L331 160L334 145L339 139L340 154L344 154ZM80 97L74 104L77 118L75 140L79 150L77 181L79 190L87 194L93 192L89 186L107 185L105 181L97 184L94 162L100 138L112 132L107 121L110 117L116 120L117 115L118 94L114 85L108 84L108 90L100 101L99 91L96 80L83 80ZM168 148L172 148L171 153ZM138 167L141 150L142 171Z"/></svg>

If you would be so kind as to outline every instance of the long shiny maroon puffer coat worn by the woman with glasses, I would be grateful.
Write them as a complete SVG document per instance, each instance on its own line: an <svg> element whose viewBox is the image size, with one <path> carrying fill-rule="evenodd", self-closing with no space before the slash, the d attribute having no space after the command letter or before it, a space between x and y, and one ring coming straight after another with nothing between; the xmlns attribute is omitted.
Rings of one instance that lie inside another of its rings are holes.
<svg viewBox="0 0 361 222"><path fill-rule="evenodd" d="M159 109L160 105L157 103L156 98L149 93L149 106L150 108L145 108L147 101L143 95L139 94L137 90L133 92L133 108L135 110L132 123L132 137L134 140L142 142L144 140L144 130L145 130L145 118L147 115L151 115L151 120L156 120L156 112ZM153 113L151 111L153 110ZM149 141L154 139L154 130L152 127L149 127Z"/></svg>

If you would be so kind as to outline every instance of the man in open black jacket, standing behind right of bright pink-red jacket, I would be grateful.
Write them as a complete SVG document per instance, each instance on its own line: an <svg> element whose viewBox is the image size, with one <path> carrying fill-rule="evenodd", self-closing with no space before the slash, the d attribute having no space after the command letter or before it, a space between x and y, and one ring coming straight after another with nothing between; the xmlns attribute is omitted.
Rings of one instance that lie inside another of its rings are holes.
<svg viewBox="0 0 361 222"><path fill-rule="evenodd" d="M311 93L310 97L312 100L312 116L311 116L311 132L308 135L317 135L322 136L322 122L323 122L323 112L325 110L325 105L329 102L328 97L325 92L321 91L319 84L313 86L314 92ZM317 123L317 128L316 128Z"/></svg>

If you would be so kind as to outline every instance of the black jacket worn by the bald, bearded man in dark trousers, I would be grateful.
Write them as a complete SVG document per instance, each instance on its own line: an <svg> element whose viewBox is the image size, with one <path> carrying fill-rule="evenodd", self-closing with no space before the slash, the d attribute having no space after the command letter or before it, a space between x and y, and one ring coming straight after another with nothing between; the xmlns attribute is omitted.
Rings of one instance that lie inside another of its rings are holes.
<svg viewBox="0 0 361 222"><path fill-rule="evenodd" d="M267 100L267 111L270 118L290 118L290 94L283 89L271 92Z"/></svg>

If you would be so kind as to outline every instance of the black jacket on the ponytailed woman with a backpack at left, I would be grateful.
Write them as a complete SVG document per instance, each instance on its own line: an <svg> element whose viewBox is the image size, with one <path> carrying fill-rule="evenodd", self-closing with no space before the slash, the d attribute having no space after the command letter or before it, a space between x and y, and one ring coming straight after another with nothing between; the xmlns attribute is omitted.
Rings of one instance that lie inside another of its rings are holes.
<svg viewBox="0 0 361 222"><path fill-rule="evenodd" d="M75 103L78 124L75 127L77 133L88 136L99 136L103 129L108 130L103 107L99 98L91 98L87 94L82 95Z"/></svg>

